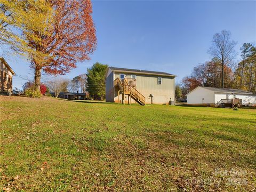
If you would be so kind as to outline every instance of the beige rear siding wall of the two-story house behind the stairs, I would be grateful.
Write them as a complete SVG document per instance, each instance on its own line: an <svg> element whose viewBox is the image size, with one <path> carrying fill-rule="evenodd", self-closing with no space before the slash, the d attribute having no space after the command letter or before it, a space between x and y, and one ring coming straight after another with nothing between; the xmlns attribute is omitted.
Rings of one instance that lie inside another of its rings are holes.
<svg viewBox="0 0 256 192"><path fill-rule="evenodd" d="M115 77L119 77L120 74L125 74L126 78L131 78L131 75L136 75L137 79L137 87L136 89L145 96L146 103L151 103L151 98L149 95L152 94L153 103L155 104L167 104L170 101L174 101L175 97L175 85L174 79L175 77L169 76L161 76L161 75L142 75L142 74L135 74L135 73L122 73L122 72L115 72ZM157 78L162 77L162 84L159 85L157 83ZM117 91L115 91L115 102L121 101L121 95L118 96ZM128 101L127 95L125 95L125 101ZM132 103L135 101L132 99Z"/></svg>

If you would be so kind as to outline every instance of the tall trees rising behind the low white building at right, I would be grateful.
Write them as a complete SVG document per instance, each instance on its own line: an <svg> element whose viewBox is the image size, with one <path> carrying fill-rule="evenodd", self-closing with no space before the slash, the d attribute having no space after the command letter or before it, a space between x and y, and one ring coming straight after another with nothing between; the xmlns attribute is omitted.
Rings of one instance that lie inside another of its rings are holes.
<svg viewBox="0 0 256 192"><path fill-rule="evenodd" d="M177 95L182 97L197 86L256 92L256 47L252 43L244 43L240 48L241 57L236 63L236 44L231 40L230 31L222 30L215 34L208 51L212 59L200 63L194 67L191 75L182 79L177 86Z"/></svg>

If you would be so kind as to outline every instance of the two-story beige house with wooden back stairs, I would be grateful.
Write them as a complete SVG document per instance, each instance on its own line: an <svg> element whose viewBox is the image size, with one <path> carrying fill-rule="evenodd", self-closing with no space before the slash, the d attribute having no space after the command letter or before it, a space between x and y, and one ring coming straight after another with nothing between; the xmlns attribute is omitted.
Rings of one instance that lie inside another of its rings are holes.
<svg viewBox="0 0 256 192"><path fill-rule="evenodd" d="M108 67L106 102L174 104L175 75L138 69Z"/></svg>

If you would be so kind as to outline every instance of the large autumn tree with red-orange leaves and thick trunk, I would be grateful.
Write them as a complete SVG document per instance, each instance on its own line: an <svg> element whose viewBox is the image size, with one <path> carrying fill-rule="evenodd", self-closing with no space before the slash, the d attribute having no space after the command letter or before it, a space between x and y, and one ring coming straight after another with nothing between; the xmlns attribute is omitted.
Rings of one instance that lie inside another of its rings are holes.
<svg viewBox="0 0 256 192"><path fill-rule="evenodd" d="M89 60L97 38L92 19L90 0L50 1L54 14L51 27L42 35L34 31L35 38L27 36L28 45L45 55L30 54L31 68L35 69L35 90L39 90L42 70L46 74L65 75L76 68L76 63ZM25 34L26 35L26 34Z"/></svg>

